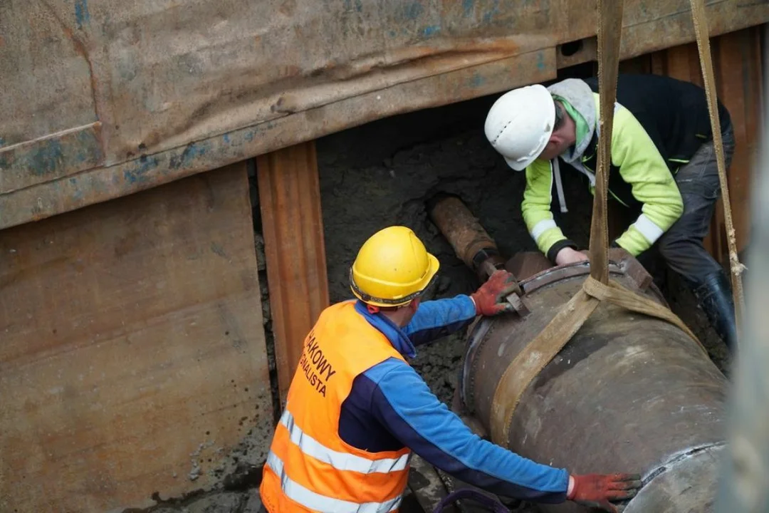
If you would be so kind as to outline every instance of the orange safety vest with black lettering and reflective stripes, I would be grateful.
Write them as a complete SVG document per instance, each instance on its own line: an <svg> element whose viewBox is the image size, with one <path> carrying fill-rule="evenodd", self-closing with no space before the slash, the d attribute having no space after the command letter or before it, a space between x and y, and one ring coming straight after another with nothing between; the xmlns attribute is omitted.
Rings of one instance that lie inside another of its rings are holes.
<svg viewBox="0 0 769 513"><path fill-rule="evenodd" d="M270 513L398 511L411 451L364 451L338 431L352 382L388 358L404 359L355 301L321 313L305 338L259 487Z"/></svg>

